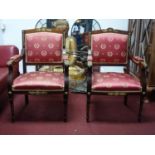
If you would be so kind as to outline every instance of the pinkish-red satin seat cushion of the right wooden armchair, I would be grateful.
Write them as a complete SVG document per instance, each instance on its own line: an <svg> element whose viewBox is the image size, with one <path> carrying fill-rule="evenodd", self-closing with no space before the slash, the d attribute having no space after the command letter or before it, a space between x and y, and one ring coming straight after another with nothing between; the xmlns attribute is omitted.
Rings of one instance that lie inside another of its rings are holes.
<svg viewBox="0 0 155 155"><path fill-rule="evenodd" d="M96 91L141 91L140 81L126 73L94 72L92 90Z"/></svg>

